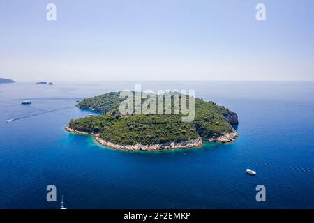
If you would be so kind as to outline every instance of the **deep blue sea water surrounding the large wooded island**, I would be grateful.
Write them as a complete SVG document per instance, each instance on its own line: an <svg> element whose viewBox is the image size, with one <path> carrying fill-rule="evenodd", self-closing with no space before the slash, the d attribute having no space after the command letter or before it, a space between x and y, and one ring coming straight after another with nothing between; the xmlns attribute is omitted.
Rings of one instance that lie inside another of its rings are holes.
<svg viewBox="0 0 314 223"><path fill-rule="evenodd" d="M195 89L237 112L239 139L127 152L63 130L89 113L76 100L135 84ZM61 194L67 208L314 208L313 95L313 82L0 84L0 208L60 208ZM50 184L57 202L46 201ZM266 202L255 200L260 184Z"/></svg>

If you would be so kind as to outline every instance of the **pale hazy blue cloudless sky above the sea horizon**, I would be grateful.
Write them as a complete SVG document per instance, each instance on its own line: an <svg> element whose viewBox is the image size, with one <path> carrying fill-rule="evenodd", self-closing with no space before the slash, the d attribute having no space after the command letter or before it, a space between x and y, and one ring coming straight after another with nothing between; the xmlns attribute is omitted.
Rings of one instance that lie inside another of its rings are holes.
<svg viewBox="0 0 314 223"><path fill-rule="evenodd" d="M257 3L265 21L255 18ZM314 81L313 8L312 0L0 0L0 77Z"/></svg>

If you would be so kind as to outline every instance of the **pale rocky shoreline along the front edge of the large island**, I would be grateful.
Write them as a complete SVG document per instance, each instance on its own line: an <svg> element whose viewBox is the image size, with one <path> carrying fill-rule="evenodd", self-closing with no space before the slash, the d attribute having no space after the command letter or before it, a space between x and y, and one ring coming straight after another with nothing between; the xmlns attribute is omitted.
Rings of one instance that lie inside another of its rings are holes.
<svg viewBox="0 0 314 223"><path fill-rule="evenodd" d="M153 145L142 145L142 144L135 144L135 145L120 145L120 144L114 144L110 141L105 141L99 137L99 134L90 134L87 132L81 132L77 130L73 130L72 128L66 126L64 128L66 131L70 133L75 134L86 134L94 136L94 139L103 146L108 146L110 148L115 148L119 150L124 151L160 151L160 150L168 150L168 149L175 149L175 148L196 148L196 147L202 147L203 146L203 140L202 139L193 139L190 141L182 141L179 143L175 142L168 142L165 144L153 144ZM237 132L231 132L228 134L225 134L218 138L211 138L211 139L204 139L204 141L216 141L221 143L227 143L234 141L235 138L239 137L239 134Z"/></svg>

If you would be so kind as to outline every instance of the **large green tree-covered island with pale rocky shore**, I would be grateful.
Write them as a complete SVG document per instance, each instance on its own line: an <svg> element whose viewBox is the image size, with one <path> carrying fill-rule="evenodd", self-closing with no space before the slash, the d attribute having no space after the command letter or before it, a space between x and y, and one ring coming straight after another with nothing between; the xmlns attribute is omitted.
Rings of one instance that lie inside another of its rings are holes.
<svg viewBox="0 0 314 223"><path fill-rule="evenodd" d="M123 100L119 92L86 98L77 107L103 114L72 119L65 129L93 135L104 146L128 151L201 147L203 141L226 143L239 136L232 127L238 123L237 114L215 102L195 98L195 118L185 123L183 114L122 115L119 105Z"/></svg>

